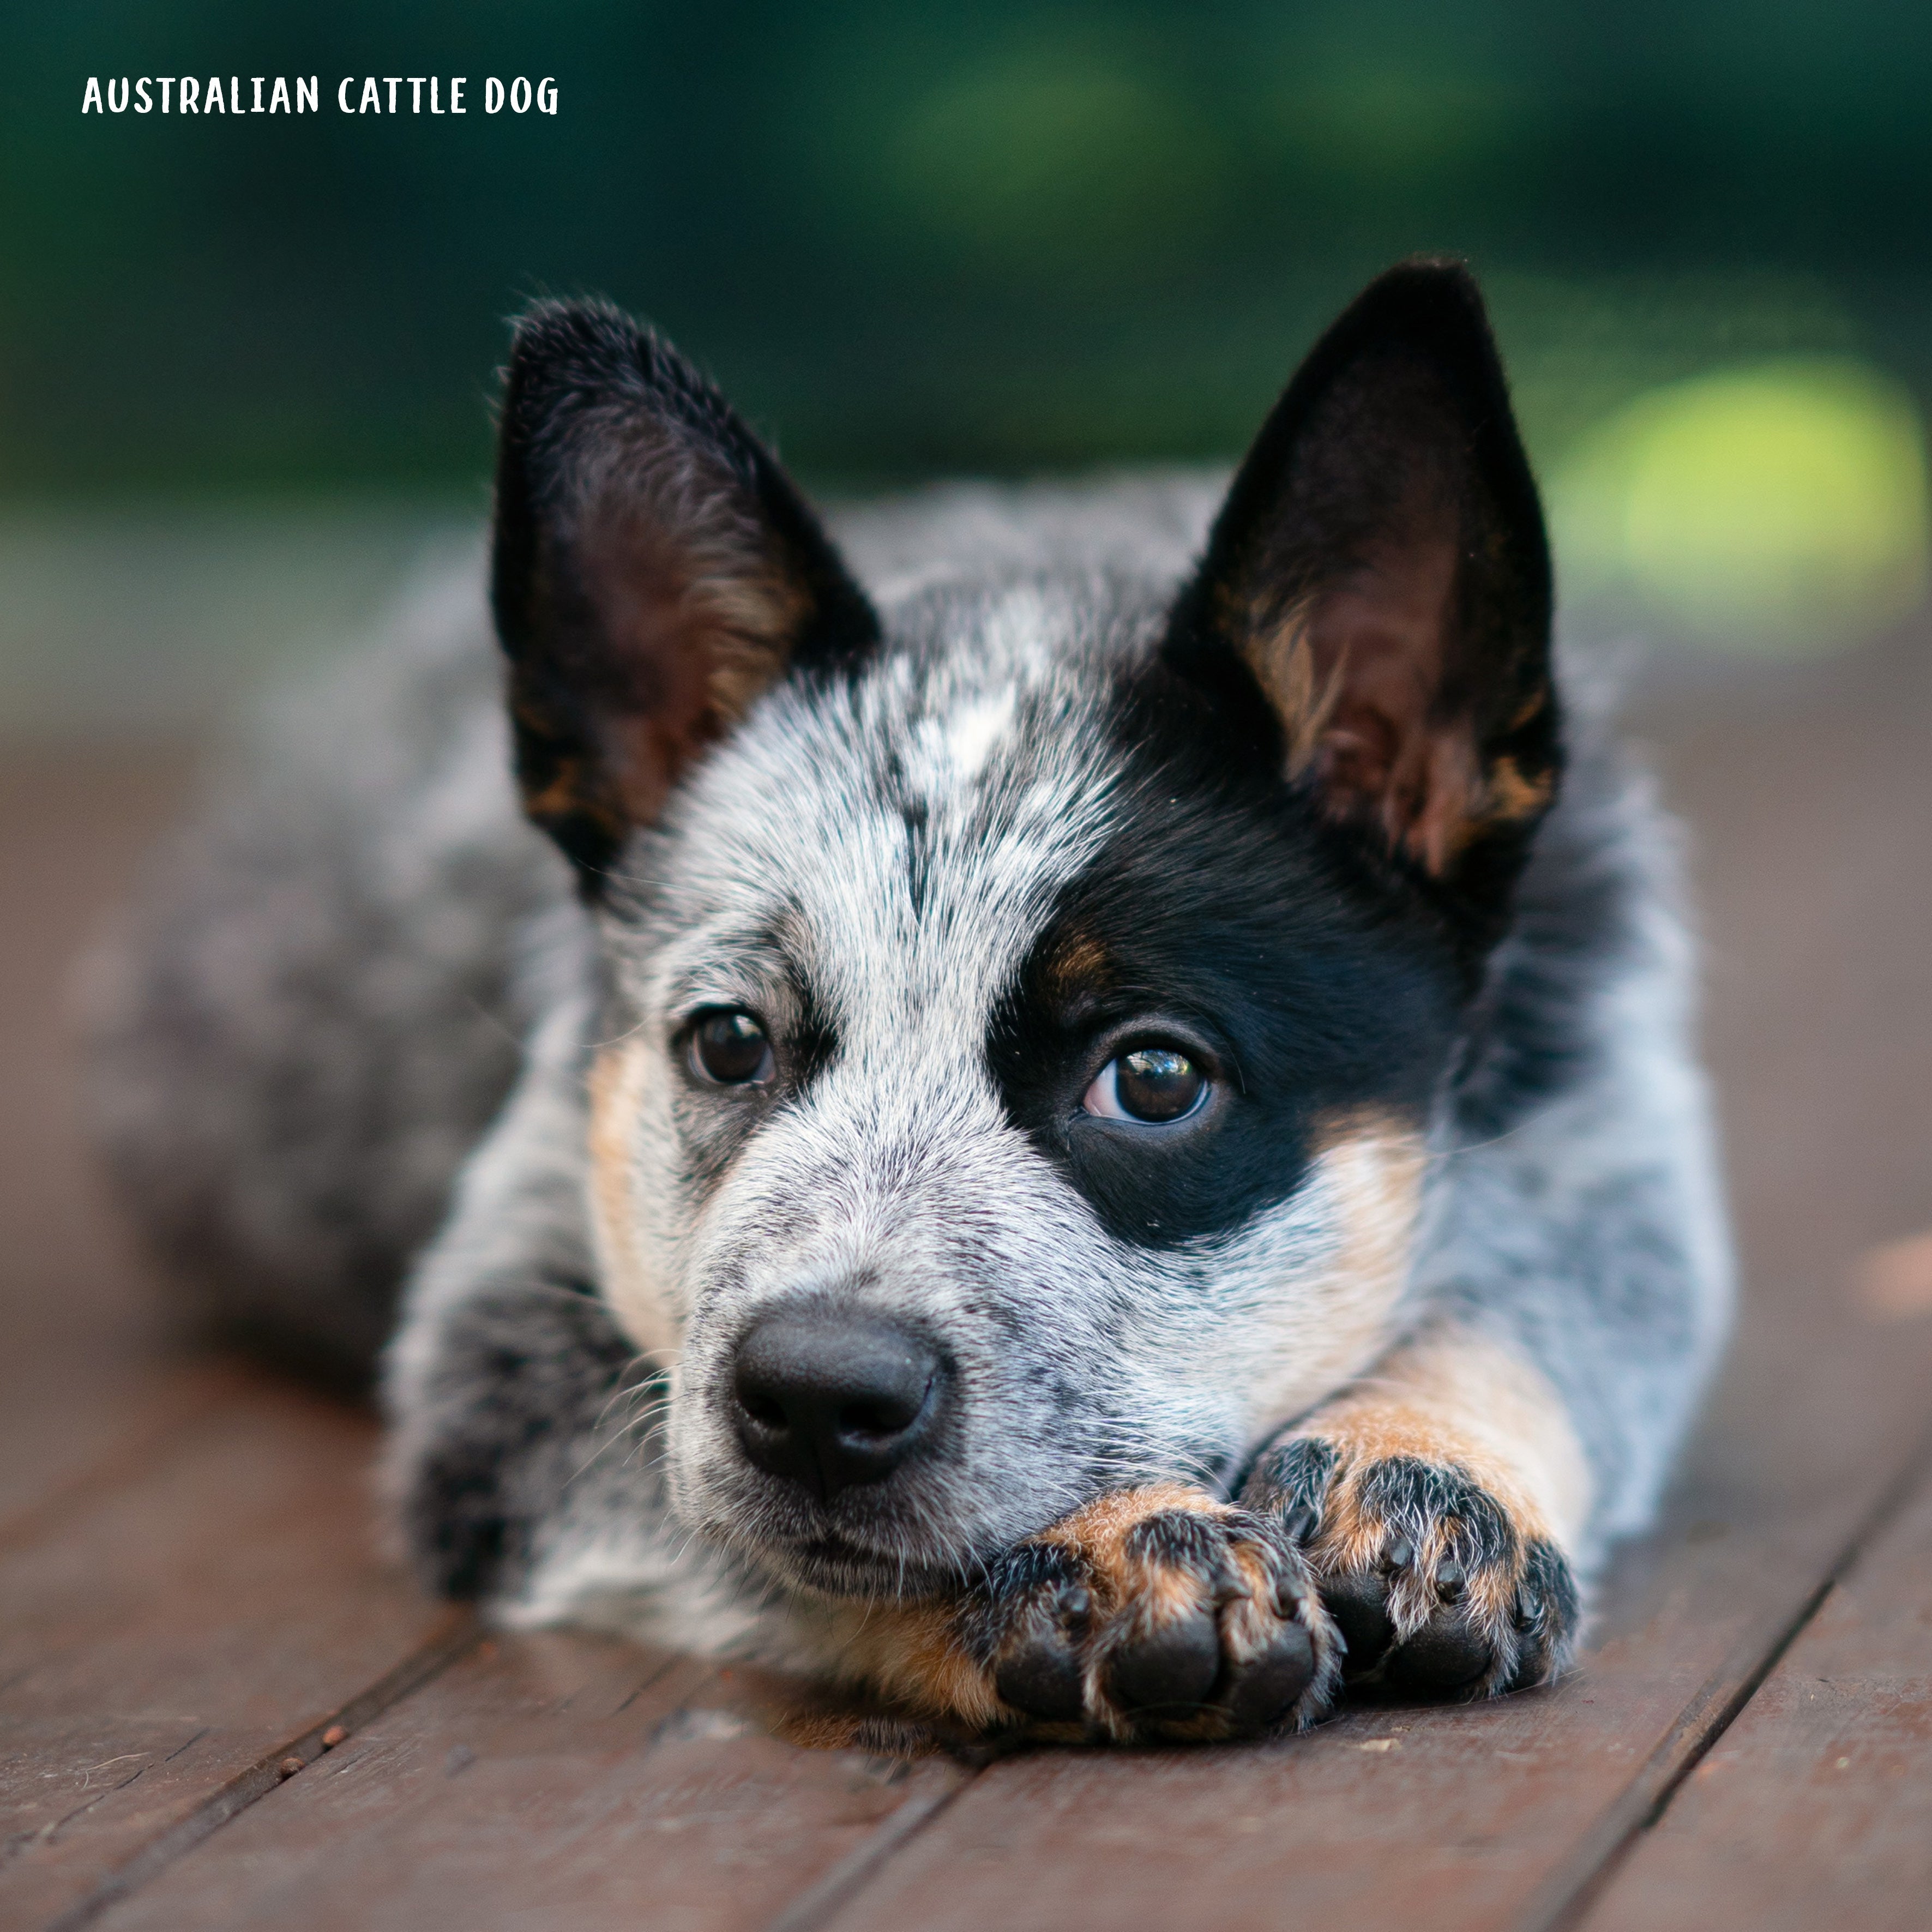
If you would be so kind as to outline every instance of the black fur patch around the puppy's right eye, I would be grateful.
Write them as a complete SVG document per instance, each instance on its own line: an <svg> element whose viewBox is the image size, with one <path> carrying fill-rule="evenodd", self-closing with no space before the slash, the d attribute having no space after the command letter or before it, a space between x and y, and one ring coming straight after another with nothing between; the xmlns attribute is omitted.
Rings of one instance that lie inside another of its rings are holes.
<svg viewBox="0 0 1932 1932"><path fill-rule="evenodd" d="M987 1034L1009 1117L1146 1246L1289 1200L1337 1113L1420 1119L1457 1036L1455 958L1428 922L1354 875L1291 786L1196 779L1188 750L1148 771L1157 748L1136 748L1119 829ZM1130 1070L1134 1049L1155 1051ZM1117 1109L1086 1105L1103 1076Z"/></svg>

